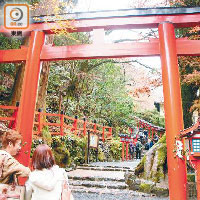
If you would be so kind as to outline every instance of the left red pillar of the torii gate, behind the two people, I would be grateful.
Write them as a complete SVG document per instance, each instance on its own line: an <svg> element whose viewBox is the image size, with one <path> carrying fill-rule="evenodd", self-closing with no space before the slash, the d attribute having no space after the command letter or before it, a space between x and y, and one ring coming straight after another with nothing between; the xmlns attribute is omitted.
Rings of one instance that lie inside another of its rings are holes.
<svg viewBox="0 0 200 200"><path fill-rule="evenodd" d="M18 112L17 130L19 130L23 137L22 152L19 154L18 160L26 166L29 165L30 160L32 130L40 73L40 53L44 44L44 38L44 32L31 32Z"/></svg>

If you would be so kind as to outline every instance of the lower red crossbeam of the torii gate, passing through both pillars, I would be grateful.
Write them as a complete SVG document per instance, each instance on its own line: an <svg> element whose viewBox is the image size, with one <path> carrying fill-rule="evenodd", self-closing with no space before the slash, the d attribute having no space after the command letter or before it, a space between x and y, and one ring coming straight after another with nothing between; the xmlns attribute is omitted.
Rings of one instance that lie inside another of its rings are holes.
<svg viewBox="0 0 200 200"><path fill-rule="evenodd" d="M197 56L200 55L200 40L176 39L177 54ZM191 48L192 46L192 48ZM14 50L0 50L0 63L21 62L26 60L27 48ZM75 60L95 58L122 58L159 56L159 41L133 42L122 44L84 44L73 46L50 46L42 48L41 61Z"/></svg>

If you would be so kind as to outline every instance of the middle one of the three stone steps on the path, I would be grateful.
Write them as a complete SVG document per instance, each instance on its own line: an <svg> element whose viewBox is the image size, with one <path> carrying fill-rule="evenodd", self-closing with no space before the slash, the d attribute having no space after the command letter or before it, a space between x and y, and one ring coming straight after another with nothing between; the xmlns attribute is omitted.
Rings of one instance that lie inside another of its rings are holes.
<svg viewBox="0 0 200 200"><path fill-rule="evenodd" d="M68 175L69 180L87 180L87 181L117 181L125 182L125 178L109 178L109 177L92 177L92 176L71 176Z"/></svg>

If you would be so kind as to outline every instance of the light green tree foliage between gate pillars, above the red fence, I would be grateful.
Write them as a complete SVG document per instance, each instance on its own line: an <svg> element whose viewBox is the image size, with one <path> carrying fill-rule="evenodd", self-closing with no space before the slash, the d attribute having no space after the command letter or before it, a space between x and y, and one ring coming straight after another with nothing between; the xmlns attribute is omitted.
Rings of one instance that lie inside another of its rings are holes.
<svg viewBox="0 0 200 200"><path fill-rule="evenodd" d="M52 112L59 110L59 92L62 110L70 116L86 116L113 127L132 123L133 100L127 95L120 67L111 61L64 61L63 66L52 66L47 91Z"/></svg>

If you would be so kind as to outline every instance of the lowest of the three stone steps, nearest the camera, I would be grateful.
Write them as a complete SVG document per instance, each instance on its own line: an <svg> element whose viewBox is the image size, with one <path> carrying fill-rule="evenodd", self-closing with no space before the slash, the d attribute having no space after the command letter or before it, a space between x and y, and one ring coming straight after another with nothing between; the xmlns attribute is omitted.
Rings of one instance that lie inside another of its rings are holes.
<svg viewBox="0 0 200 200"><path fill-rule="evenodd" d="M69 180L70 186L84 186L87 188L108 188L108 189L127 189L128 186L123 182L117 181L80 181L80 180Z"/></svg>

